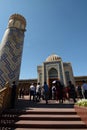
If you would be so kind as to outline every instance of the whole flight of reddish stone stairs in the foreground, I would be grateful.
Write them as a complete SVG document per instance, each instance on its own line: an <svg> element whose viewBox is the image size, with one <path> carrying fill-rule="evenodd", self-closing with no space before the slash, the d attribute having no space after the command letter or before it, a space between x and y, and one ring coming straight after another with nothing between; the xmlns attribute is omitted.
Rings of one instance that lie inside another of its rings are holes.
<svg viewBox="0 0 87 130"><path fill-rule="evenodd" d="M1 130L87 130L74 108L35 108L5 110Z"/></svg>

